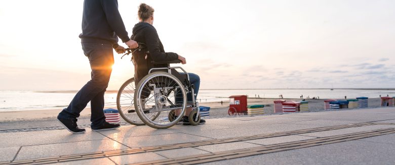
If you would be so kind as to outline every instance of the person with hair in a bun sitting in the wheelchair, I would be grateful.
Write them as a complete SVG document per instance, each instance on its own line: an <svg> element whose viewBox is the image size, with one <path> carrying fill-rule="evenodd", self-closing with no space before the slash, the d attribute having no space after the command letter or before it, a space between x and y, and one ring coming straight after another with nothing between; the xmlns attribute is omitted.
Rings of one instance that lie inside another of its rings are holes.
<svg viewBox="0 0 395 165"><path fill-rule="evenodd" d="M137 84L144 76L148 75L149 69L153 67L148 65L148 62L150 64L151 61L167 62L167 61L174 61L178 59L181 61L181 64L186 64L186 60L184 57L174 52L165 51L163 44L159 39L159 35L157 34L155 27L153 26L154 9L144 3L140 4L137 15L140 22L134 25L131 39L137 42L145 43L146 49L149 51L149 53L146 53L147 51L136 51L133 54L133 63L135 67L134 69L135 83ZM185 75L185 73L183 72L182 73L180 72L180 74ZM190 83L193 84L194 86L194 93L196 94L194 99L196 101L196 97L199 93L200 77L193 73L188 73L188 74L189 74ZM176 90L175 93L177 93L175 95L176 103L182 102L181 92L177 92ZM192 104L191 93L187 93L187 103ZM182 118L183 125L190 125L188 116L192 110L193 110L192 107L186 108L185 114ZM180 115L181 113L180 109L176 109L175 113L176 115ZM201 119L199 124L205 124L205 123L206 121Z"/></svg>

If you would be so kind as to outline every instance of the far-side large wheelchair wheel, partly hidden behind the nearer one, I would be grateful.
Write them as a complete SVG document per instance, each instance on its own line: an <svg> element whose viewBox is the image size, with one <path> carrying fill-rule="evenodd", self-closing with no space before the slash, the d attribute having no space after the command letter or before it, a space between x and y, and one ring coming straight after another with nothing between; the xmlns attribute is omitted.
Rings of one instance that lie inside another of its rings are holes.
<svg viewBox="0 0 395 165"><path fill-rule="evenodd" d="M136 126L145 125L138 117L134 106L134 92L136 85L134 78L127 80L116 95L116 107L121 117L128 123ZM155 119L159 113L152 114L151 119Z"/></svg>

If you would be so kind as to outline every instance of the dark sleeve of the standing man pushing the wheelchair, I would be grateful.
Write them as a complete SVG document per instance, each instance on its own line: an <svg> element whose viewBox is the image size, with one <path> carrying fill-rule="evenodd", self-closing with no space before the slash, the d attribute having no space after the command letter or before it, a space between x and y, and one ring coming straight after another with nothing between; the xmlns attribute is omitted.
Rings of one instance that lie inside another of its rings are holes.
<svg viewBox="0 0 395 165"><path fill-rule="evenodd" d="M130 38L126 31L120 11L118 11L118 1L102 0L101 5L111 29L114 30L115 34L122 39L122 42L128 42Z"/></svg>

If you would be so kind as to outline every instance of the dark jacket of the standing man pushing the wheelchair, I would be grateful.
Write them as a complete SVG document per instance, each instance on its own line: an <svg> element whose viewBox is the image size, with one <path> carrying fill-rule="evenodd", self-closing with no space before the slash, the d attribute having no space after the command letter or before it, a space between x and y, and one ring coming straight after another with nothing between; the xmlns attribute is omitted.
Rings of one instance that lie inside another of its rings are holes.
<svg viewBox="0 0 395 165"><path fill-rule="evenodd" d="M118 42L117 36L123 42L130 40L118 11L117 0L85 0L82 31L82 40L107 40L112 44Z"/></svg>

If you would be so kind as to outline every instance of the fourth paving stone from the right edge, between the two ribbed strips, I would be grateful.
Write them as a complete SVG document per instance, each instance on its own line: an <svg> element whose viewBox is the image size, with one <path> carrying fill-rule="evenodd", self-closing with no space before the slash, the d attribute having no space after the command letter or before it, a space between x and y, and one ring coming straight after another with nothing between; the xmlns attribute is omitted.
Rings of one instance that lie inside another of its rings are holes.
<svg viewBox="0 0 395 165"><path fill-rule="evenodd" d="M197 155L197 154L203 154L209 152L188 147L188 148L180 148L180 149L170 149L165 151L156 151L155 153L165 156L167 158L175 158L175 157Z"/></svg>

